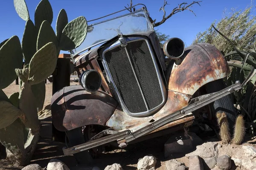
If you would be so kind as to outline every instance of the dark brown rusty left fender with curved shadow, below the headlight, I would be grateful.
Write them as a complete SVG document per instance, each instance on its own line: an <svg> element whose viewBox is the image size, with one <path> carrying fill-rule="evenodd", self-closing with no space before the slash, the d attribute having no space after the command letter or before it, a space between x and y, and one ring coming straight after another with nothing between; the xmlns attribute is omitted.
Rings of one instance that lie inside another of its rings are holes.
<svg viewBox="0 0 256 170"><path fill-rule="evenodd" d="M64 87L52 96L52 123L60 131L85 125L105 125L117 102L102 91L89 93L80 85Z"/></svg>

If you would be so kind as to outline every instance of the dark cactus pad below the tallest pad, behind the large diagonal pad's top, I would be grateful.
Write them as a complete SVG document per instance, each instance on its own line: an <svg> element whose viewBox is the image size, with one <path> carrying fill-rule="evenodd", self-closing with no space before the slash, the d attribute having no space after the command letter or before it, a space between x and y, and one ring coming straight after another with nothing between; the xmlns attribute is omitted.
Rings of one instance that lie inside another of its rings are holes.
<svg viewBox="0 0 256 170"><path fill-rule="evenodd" d="M55 32L52 29L52 26L48 21L44 21L40 27L38 39L37 39L37 50L40 50L48 42L53 42L58 48L58 39L55 35Z"/></svg>

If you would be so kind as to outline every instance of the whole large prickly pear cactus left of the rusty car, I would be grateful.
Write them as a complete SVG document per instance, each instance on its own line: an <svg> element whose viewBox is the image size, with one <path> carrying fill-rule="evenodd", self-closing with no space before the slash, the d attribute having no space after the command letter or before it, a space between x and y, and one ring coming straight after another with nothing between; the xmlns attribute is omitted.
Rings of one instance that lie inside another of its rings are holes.
<svg viewBox="0 0 256 170"><path fill-rule="evenodd" d="M26 165L39 140L38 112L44 105L44 80L55 70L61 50L72 50L84 41L87 21L78 17L68 23L66 11L61 9L55 34L48 0L38 4L35 25L30 20L25 0L14 0L14 6L26 25L21 44L17 36L0 43L0 142L16 164ZM1 89L9 86L17 76L20 92L8 98Z"/></svg>

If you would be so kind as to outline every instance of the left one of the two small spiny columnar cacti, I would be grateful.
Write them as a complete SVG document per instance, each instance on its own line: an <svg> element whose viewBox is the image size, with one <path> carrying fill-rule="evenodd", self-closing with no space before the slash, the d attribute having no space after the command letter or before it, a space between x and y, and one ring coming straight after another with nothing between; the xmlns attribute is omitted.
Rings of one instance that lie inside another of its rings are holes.
<svg viewBox="0 0 256 170"><path fill-rule="evenodd" d="M231 136L230 136L230 130L229 130L229 125L227 121L227 115L224 112L218 112L216 114L216 117L218 119L218 125L220 127L221 141L224 144L229 144L231 141Z"/></svg>

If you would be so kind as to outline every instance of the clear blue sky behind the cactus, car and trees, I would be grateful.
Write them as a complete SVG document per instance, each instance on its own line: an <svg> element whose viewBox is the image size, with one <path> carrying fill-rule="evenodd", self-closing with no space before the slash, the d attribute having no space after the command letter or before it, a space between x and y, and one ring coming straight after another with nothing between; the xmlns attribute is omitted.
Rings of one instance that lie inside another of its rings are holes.
<svg viewBox="0 0 256 170"><path fill-rule="evenodd" d="M112 13L123 9L130 0L49 0L53 8L52 27L55 28L58 12L61 8L67 11L69 21L79 16L86 17L87 20L92 20L97 17ZM34 11L40 0L26 0L29 8L29 14L34 21ZM184 2L183 0L169 0L166 6L166 13L171 12L177 4ZM192 0L185 0L191 3ZM152 19L160 21L163 12L159 12L159 8L163 5L163 0L133 0L134 4L144 3ZM170 37L179 37L186 45L190 45L195 39L199 31L206 30L214 20L220 20L223 11L227 8L236 8L244 10L248 5L253 4L253 15L256 14L256 3L252 0L203 0L201 6L193 5L192 10L196 17L189 11L179 12L169 18L163 25L156 27L160 32L170 35ZM25 21L22 20L16 13L13 0L0 1L0 41L17 35L22 39Z"/></svg>

